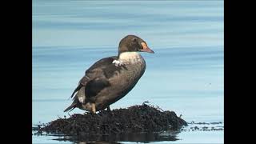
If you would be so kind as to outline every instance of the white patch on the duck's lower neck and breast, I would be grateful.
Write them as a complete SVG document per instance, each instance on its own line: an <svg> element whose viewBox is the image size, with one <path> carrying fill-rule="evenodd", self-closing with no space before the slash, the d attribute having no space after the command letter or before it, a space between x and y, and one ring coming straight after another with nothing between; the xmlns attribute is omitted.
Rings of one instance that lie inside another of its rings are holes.
<svg viewBox="0 0 256 144"><path fill-rule="evenodd" d="M138 52L123 52L119 55L118 60L114 60L112 63L114 63L115 66L122 66L141 62L142 59L141 54L138 54Z"/></svg>

